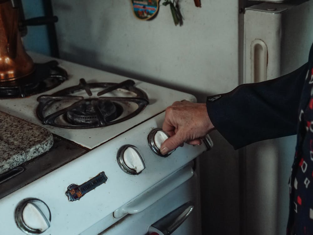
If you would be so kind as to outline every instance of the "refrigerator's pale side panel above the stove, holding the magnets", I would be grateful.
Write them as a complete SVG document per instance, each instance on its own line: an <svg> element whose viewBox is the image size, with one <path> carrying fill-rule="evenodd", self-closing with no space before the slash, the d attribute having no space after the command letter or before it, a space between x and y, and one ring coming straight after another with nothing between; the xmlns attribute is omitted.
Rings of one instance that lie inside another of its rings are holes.
<svg viewBox="0 0 313 235"><path fill-rule="evenodd" d="M52 3L64 59L203 94L238 84L237 1L180 1L182 27L162 4L155 19L141 21L130 0Z"/></svg>

